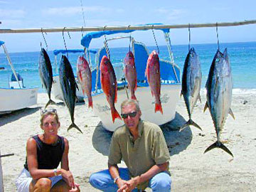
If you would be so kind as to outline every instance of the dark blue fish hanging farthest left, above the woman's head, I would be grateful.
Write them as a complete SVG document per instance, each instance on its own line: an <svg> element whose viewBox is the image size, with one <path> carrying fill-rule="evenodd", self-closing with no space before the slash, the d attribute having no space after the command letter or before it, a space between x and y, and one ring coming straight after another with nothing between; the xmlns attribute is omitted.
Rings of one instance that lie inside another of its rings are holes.
<svg viewBox="0 0 256 192"><path fill-rule="evenodd" d="M41 48L38 62L38 71L43 87L45 87L49 97L49 101L46 103L46 107L50 104L55 104L55 102L50 99L50 92L53 85L53 68L50 64L50 58L44 48Z"/></svg>

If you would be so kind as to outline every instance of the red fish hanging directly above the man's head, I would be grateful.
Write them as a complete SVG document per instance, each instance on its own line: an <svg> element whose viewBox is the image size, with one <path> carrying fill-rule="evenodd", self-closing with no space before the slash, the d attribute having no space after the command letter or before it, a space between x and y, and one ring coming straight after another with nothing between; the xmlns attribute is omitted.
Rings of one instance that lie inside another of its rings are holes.
<svg viewBox="0 0 256 192"><path fill-rule="evenodd" d="M132 51L127 53L126 57L124 58L124 75L128 82L128 87L131 92L132 100L137 100L134 91L137 90L137 72L134 63L134 55Z"/></svg>

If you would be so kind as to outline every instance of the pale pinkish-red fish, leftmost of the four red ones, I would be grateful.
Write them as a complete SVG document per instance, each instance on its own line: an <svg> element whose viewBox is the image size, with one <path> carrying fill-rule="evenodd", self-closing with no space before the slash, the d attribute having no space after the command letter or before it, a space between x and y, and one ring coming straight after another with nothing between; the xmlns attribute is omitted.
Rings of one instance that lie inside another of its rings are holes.
<svg viewBox="0 0 256 192"><path fill-rule="evenodd" d="M78 57L77 70L78 82L82 87L82 93L87 95L88 107L92 107L92 73L84 57Z"/></svg>

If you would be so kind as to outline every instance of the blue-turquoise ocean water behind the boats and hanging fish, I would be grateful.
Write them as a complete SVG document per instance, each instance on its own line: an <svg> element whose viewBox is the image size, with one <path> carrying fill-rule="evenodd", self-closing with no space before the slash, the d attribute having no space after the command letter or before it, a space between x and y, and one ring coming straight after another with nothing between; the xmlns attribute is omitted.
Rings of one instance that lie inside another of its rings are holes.
<svg viewBox="0 0 256 192"><path fill-rule="evenodd" d="M196 53L199 55L201 61L201 68L203 74L202 87L205 87L206 80L208 78L208 72L213 57L217 51L217 44L195 44L191 45L196 49ZM233 88L236 90L255 90L256 89L256 42L246 43L220 43L220 51L223 52L225 48L228 48L228 55L230 58L232 74L233 74ZM157 50L156 47L148 47L149 52L151 50ZM129 48L111 48L110 57L112 63L122 63ZM174 61L181 68L181 74L183 70L183 64L188 53L188 45L172 46L174 53ZM24 53L9 53L11 61L16 69L16 72L23 78L24 86L26 87L41 87L41 80L38 73L38 58L39 52L24 52ZM53 51L48 51L51 63L53 65L53 73L55 71L54 55ZM69 53L68 59L73 66L74 73L76 71L76 62L79 53ZM60 56L58 55L57 63L60 62ZM95 59L92 54L92 63L95 63ZM169 59L169 54L166 46L159 46L159 57L163 59ZM4 70L0 70L0 87L8 87L9 79L11 77L11 67L6 60L4 50L0 48L0 68L4 67ZM45 92L40 88L40 92Z"/></svg>

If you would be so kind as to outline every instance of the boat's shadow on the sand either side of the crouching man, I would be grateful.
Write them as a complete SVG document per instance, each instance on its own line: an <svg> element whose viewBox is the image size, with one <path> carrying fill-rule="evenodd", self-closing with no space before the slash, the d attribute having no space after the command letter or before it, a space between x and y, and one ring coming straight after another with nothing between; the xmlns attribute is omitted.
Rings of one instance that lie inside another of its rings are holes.
<svg viewBox="0 0 256 192"><path fill-rule="evenodd" d="M175 118L166 124L161 125L161 129L164 133L167 146L169 148L170 156L178 154L185 150L192 140L192 132L190 127L183 129L179 132L179 127L186 123L186 120L176 112ZM101 154L107 156L110 149L110 142L113 132L109 132L102 127L100 122L95 128L95 132L92 135L92 145Z"/></svg>

